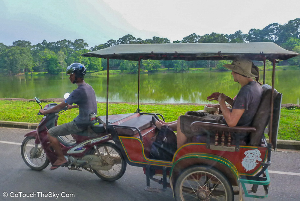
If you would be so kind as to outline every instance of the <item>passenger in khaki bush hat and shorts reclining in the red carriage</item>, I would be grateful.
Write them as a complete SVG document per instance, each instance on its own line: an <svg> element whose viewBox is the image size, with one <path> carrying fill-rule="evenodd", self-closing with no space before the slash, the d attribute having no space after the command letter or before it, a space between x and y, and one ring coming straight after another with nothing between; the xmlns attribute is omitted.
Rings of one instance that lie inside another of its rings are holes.
<svg viewBox="0 0 300 201"><path fill-rule="evenodd" d="M218 124L226 124L229 127L249 126L258 109L263 89L259 80L259 69L252 61L245 57L237 57L232 64L225 64L224 67L232 70L231 74L235 82L240 83L241 89L236 95L235 100L229 98L223 93L214 92L207 97L207 100L217 100L219 104L208 104L207 106L219 108L223 117L211 115L205 112L188 111L178 120L166 123L152 117L152 122L158 129L163 125L170 126L177 131L177 147L181 147L187 142L187 139L193 135L199 135L190 129L190 124L194 121L211 122ZM252 79L255 77L256 81ZM227 108L227 102L232 109ZM232 136L234 138L234 136ZM240 135L240 139L246 139L246 134Z"/></svg>

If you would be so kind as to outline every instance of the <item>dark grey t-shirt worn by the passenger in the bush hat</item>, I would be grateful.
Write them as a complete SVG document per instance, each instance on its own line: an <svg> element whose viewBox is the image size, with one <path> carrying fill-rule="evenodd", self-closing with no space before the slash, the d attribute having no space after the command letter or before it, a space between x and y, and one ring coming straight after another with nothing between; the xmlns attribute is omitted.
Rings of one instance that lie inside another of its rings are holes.
<svg viewBox="0 0 300 201"><path fill-rule="evenodd" d="M262 87L252 81L243 86L232 103L232 109L245 109L237 126L249 126L262 98Z"/></svg>

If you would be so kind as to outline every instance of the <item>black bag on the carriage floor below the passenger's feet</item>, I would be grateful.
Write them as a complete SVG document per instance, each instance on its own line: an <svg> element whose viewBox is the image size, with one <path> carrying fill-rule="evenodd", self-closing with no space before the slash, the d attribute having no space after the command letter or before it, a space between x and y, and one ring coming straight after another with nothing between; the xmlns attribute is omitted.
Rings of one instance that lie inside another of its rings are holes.
<svg viewBox="0 0 300 201"><path fill-rule="evenodd" d="M177 150L177 140L174 131L169 126L162 126L150 149L150 159L172 161Z"/></svg>

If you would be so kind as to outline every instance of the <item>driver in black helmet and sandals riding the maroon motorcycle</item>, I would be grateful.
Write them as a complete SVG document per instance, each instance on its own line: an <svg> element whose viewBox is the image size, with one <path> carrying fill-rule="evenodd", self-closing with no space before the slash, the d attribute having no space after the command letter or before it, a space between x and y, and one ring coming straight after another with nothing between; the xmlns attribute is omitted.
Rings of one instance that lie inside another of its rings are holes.
<svg viewBox="0 0 300 201"><path fill-rule="evenodd" d="M47 132L50 145L57 156L57 160L52 164L50 170L55 170L59 166L67 164L57 137L78 133L87 129L88 126L92 125L89 114L97 114L95 91L84 81L84 75L86 74L85 66L81 63L72 63L67 67L66 74L70 76L70 82L77 85L77 89L75 89L67 99L55 107L49 110L41 109L39 111L42 115L45 115L59 112L66 106L68 109L79 108L79 114L73 121L52 127ZM75 105L73 105L73 103L75 103Z"/></svg>

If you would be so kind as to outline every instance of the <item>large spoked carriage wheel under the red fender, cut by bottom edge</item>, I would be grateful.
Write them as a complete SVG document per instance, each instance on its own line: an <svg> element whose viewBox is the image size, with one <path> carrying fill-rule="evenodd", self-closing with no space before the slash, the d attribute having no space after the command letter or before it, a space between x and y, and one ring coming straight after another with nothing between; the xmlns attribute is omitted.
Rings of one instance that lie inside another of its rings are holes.
<svg viewBox="0 0 300 201"><path fill-rule="evenodd" d="M176 201L233 201L233 189L218 170L207 166L185 169L175 184Z"/></svg>

